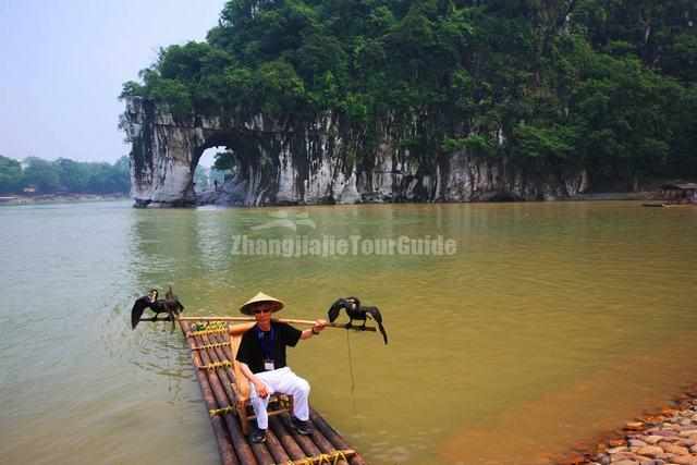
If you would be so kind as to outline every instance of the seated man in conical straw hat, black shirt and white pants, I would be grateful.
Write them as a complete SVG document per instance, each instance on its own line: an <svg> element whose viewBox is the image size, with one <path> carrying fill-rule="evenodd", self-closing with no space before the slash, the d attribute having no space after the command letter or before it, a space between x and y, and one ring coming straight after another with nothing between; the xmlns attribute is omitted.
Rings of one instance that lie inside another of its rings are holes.
<svg viewBox="0 0 697 465"><path fill-rule="evenodd" d="M319 334L327 321L319 319L313 328L304 331L288 323L272 322L271 314L282 308L281 301L262 292L240 307L240 311L254 315L257 321L242 335L235 357L240 362L242 372L249 380L250 402L258 426L258 429L252 432L250 439L257 443L266 441L266 430L269 426L266 409L269 395L274 392L293 395L295 412L292 426L301 435L313 433L307 403L309 383L285 365L285 346L294 347L301 339L310 339Z"/></svg>

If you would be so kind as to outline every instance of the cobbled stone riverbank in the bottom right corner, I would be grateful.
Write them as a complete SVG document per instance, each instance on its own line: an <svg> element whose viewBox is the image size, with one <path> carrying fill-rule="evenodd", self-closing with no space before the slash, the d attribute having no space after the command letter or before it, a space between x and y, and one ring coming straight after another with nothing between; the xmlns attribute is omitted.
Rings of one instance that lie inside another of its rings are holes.
<svg viewBox="0 0 697 465"><path fill-rule="evenodd" d="M563 465L697 465L697 382L670 405L639 415L622 431L603 435Z"/></svg>

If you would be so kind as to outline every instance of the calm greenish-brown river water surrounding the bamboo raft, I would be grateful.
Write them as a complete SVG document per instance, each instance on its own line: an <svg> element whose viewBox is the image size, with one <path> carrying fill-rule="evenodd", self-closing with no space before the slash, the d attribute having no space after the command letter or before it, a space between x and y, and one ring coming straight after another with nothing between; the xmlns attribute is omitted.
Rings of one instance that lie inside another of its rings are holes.
<svg viewBox="0 0 697 465"><path fill-rule="evenodd" d="M697 374L690 207L111 203L2 206L0 223L9 463L218 461L183 338L129 328L133 301L169 282L187 315L236 315L260 290L288 317L347 295L380 307L389 346L328 330L290 353L313 405L375 463L545 463ZM242 236L442 236L456 253L243 255Z"/></svg>

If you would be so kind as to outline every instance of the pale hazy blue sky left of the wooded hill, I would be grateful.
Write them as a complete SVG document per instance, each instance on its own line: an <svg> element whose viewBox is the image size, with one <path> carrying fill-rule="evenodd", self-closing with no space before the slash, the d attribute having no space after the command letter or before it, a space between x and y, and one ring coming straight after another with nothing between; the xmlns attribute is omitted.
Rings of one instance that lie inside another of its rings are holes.
<svg viewBox="0 0 697 465"><path fill-rule="evenodd" d="M125 81L204 40L224 0L0 0L0 155L109 161Z"/></svg>

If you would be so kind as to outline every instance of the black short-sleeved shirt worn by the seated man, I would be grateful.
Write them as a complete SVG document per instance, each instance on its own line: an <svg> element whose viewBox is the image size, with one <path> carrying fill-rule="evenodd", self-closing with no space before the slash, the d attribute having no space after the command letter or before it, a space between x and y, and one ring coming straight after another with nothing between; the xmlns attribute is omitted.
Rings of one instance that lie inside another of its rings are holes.
<svg viewBox="0 0 697 465"><path fill-rule="evenodd" d="M271 333L273 333L273 340L271 340ZM264 335L264 343L259 334ZM267 357L265 352L268 350L271 359L273 359L273 368L283 368L285 366L285 346L294 347L302 334L303 331L288 323L271 321L271 331L261 331L255 325L242 335L235 358L237 362L247 364L252 372L261 372L265 371L264 359Z"/></svg>

